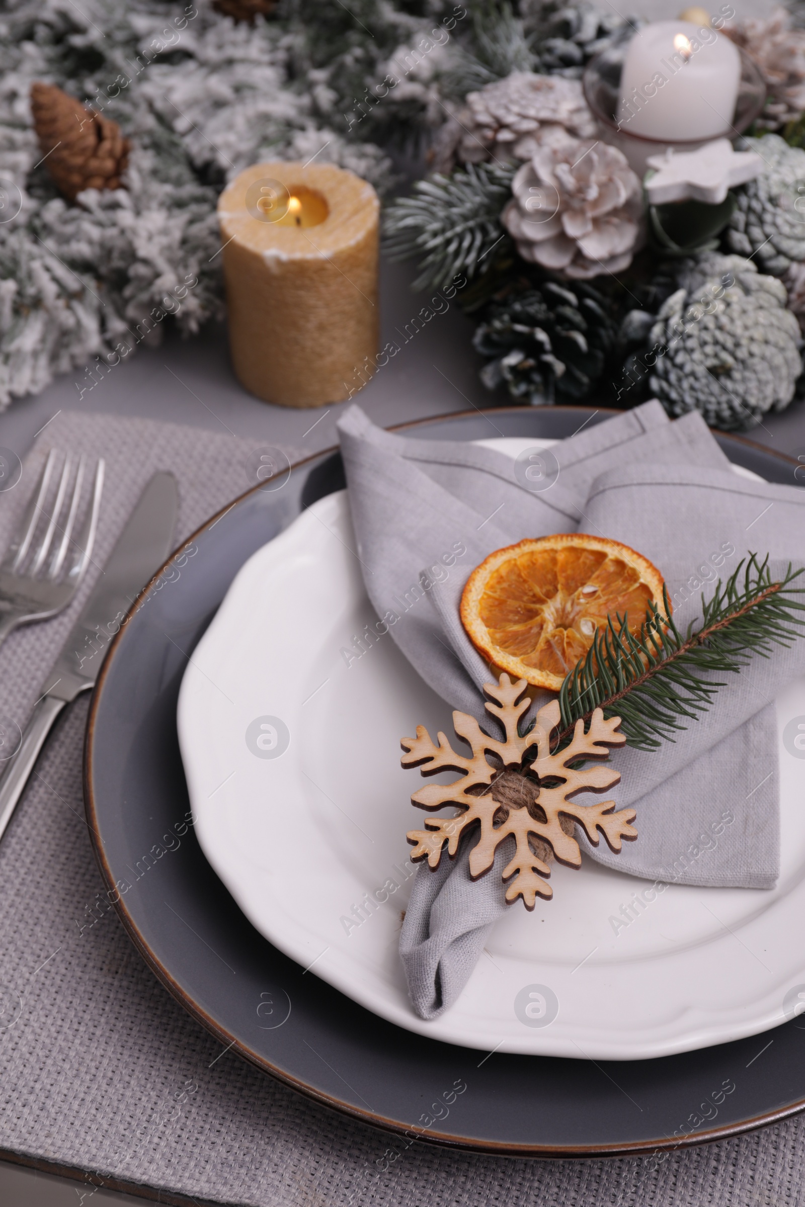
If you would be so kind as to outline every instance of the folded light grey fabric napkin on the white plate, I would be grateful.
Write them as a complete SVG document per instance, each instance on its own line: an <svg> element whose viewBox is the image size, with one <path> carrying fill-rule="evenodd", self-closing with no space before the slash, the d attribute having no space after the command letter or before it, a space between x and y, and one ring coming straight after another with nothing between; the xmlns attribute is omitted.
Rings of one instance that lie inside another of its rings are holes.
<svg viewBox="0 0 805 1207"><path fill-rule="evenodd" d="M700 589L728 575L747 547L805 560L805 495L740 479L699 415L670 422L659 403L555 445L558 476L536 491L511 459L490 449L401 439L374 428L356 407L339 426L369 597L380 616L399 617L390 631L430 686L486 727L492 722L480 688L490 674L463 632L457 605L467 575L491 550L552 532L616 537L657 562L681 624L698 616ZM787 508L775 542L757 518L772 496L781 511L783 501ZM753 503L741 509L736 500L763 503L746 518ZM805 642L756 663L740 687L736 678L722 690L718 711L693 722L676 744L654 754L613 756L623 782L612 794L619 806L637 809L640 839L613 856L606 844L594 849L577 833L594 859L683 884L775 884L778 810L770 701L782 682L805 671ZM724 815L731 818L727 827ZM707 857L700 857L707 827L719 822L718 842L708 841ZM420 868L401 954L422 1016L455 1001L489 927L511 908L500 875L507 859L502 847L477 884L461 852L453 862L444 857L436 873Z"/></svg>

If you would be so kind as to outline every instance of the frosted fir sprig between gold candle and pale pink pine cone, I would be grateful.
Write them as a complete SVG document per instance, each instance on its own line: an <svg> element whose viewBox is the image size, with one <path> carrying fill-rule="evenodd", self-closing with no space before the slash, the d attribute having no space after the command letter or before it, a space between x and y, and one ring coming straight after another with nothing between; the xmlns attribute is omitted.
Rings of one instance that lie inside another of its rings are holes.
<svg viewBox="0 0 805 1207"><path fill-rule="evenodd" d="M513 176L506 164L468 164L451 176L418 181L412 197L389 206L384 232L391 258L425 253L414 288L441 288L456 276L472 280L489 272L508 245L500 215Z"/></svg>

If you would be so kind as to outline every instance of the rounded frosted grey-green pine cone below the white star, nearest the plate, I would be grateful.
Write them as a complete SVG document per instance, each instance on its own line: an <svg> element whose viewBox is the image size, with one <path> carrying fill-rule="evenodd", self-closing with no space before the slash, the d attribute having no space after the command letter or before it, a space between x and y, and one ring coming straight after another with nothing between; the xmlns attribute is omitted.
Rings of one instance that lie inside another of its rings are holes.
<svg viewBox="0 0 805 1207"><path fill-rule="evenodd" d="M671 415L699 410L711 427L753 427L783 410L803 372L799 325L786 287L741 256L687 261L682 286L648 337L651 387Z"/></svg>

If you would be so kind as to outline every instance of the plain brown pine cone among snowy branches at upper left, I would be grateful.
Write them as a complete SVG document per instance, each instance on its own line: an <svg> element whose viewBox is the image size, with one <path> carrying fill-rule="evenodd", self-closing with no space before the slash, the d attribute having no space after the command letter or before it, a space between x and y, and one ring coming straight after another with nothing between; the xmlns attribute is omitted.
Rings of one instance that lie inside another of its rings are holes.
<svg viewBox="0 0 805 1207"><path fill-rule="evenodd" d="M49 83L30 89L34 128L59 192L75 202L82 188L119 188L130 142L117 122L84 109Z"/></svg>

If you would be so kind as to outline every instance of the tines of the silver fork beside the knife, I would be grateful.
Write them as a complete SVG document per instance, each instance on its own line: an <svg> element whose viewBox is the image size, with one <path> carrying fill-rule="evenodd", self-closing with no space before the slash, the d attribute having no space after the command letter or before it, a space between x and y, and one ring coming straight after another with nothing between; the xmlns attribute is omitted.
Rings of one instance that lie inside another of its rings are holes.
<svg viewBox="0 0 805 1207"><path fill-rule="evenodd" d="M60 472L59 472L60 463ZM98 460L83 502L87 461L51 449L0 570L27 578L77 583L95 540L104 462Z"/></svg>

